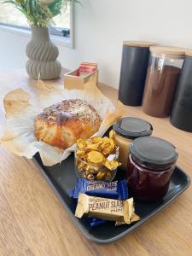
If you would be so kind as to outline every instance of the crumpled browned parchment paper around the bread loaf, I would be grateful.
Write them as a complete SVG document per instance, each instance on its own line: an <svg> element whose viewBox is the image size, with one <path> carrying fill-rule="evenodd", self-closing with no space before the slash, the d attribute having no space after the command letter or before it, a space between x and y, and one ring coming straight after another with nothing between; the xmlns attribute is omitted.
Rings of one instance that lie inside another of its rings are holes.
<svg viewBox="0 0 192 256"><path fill-rule="evenodd" d="M61 163L74 151L76 144L64 150L38 141L34 136L34 122L38 113L44 108L70 99L85 100L96 108L102 118L102 124L93 137L102 137L113 122L123 115L124 109L120 103L114 107L94 83L94 80L90 79L84 84L83 90L67 90L54 81L44 83L41 80L37 84L23 86L25 90L18 88L8 92L2 86L0 99L3 101L0 104L3 103L7 120L0 137L0 144L10 152L27 159L32 159L34 154L39 153L44 166Z"/></svg>

